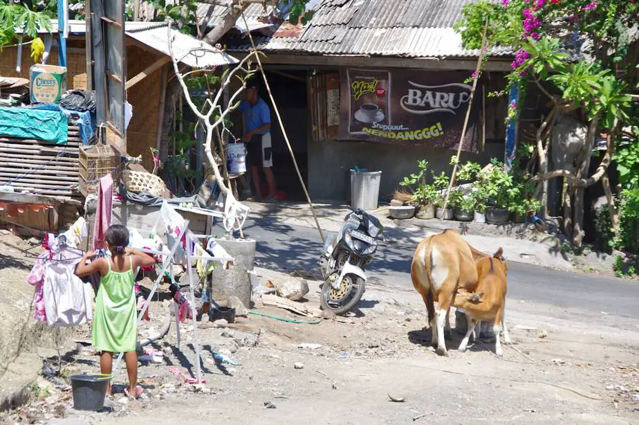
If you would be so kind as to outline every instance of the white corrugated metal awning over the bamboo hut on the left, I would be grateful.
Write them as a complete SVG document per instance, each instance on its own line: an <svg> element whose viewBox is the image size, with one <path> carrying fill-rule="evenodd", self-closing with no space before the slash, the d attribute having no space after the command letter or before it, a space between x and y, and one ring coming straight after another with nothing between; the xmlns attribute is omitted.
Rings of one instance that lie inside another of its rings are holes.
<svg viewBox="0 0 639 425"><path fill-rule="evenodd" d="M84 34L86 33L86 22L79 20L69 20L69 33ZM52 33L57 32L57 19L50 21ZM17 33L21 31L17 30ZM149 46L150 48L169 55L169 33L165 22L126 22L124 24L124 32L128 37L138 40L138 42ZM44 34L48 31L39 28L38 33ZM237 64L239 61L219 51L210 44L192 37L191 35L180 33L180 31L172 28L171 37L173 38L173 51L180 62L193 68L207 68L210 66L222 66ZM197 51L195 51L197 49Z"/></svg>

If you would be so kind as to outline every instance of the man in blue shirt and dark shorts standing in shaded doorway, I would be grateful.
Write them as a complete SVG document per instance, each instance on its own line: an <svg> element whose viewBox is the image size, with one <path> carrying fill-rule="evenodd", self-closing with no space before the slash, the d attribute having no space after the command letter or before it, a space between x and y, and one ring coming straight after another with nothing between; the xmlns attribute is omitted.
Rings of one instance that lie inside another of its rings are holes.
<svg viewBox="0 0 639 425"><path fill-rule="evenodd" d="M255 195L261 198L259 168L264 170L268 183L268 199L275 199L275 178L271 170L273 166L272 147L270 141L270 108L259 97L256 84L246 87L246 100L238 108L244 118L244 134L242 141L246 145L248 161L251 165L251 178L255 183Z"/></svg>

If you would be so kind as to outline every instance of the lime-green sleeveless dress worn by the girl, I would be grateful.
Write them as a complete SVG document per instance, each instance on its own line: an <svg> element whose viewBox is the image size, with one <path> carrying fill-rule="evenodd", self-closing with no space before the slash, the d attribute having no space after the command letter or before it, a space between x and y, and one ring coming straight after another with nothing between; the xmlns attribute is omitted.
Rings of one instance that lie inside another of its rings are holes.
<svg viewBox="0 0 639 425"><path fill-rule="evenodd" d="M129 257L131 262L131 257ZM133 262L128 271L111 271L100 279L93 314L93 347L107 352L136 351L138 323L133 292Z"/></svg>

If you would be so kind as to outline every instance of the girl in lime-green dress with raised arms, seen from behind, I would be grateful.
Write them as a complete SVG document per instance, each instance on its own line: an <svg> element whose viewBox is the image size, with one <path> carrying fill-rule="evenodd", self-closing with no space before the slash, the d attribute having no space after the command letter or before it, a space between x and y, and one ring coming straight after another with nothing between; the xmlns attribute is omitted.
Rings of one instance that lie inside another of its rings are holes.
<svg viewBox="0 0 639 425"><path fill-rule="evenodd" d="M86 264L95 255L94 251L84 254L75 273L79 277L100 273L100 288L95 296L93 314L93 347L100 351L100 371L111 374L113 353L124 352L129 374L129 397L138 397L142 388L138 381L138 318L136 296L133 290L138 267L155 264L150 255L127 248L129 230L115 224L107 229L104 239L111 258L102 257ZM111 385L107 389L111 395Z"/></svg>

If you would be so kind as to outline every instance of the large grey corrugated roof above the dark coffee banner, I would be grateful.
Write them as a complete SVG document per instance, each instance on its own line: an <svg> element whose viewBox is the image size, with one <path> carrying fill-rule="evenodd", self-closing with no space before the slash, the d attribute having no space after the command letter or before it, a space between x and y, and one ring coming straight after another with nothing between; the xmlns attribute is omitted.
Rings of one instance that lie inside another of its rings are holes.
<svg viewBox="0 0 639 425"><path fill-rule="evenodd" d="M259 48L267 53L476 57L479 50L463 48L461 35L452 29L463 6L474 1L322 0L306 27L282 25L272 37L260 37ZM228 46L230 51L249 50L246 39ZM494 48L491 54L512 52Z"/></svg>

